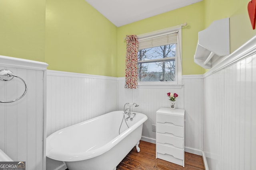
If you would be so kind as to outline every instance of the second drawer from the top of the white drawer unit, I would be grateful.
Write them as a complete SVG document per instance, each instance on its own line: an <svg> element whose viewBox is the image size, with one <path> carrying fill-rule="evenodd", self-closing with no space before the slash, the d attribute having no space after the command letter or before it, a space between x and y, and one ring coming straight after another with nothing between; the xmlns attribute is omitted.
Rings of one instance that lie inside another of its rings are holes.
<svg viewBox="0 0 256 170"><path fill-rule="evenodd" d="M170 133L178 137L184 137L183 127L171 125L168 123L156 123L156 132Z"/></svg>

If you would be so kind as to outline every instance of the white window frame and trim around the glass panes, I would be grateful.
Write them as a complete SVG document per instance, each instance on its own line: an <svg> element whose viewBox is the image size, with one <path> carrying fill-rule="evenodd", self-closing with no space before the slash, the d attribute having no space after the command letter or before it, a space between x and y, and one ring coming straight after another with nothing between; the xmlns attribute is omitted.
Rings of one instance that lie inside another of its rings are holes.
<svg viewBox="0 0 256 170"><path fill-rule="evenodd" d="M176 55L175 55L175 81L172 82L140 82L138 81L138 86L142 88L151 88L151 86L157 86L162 88L181 88L182 86L182 26L170 27L167 29L161 29L158 31L153 31L150 33L145 33L142 35L137 35L138 42L140 44L140 40L142 39L150 39L151 37L155 36L162 36L170 33L177 32L177 44L176 44ZM160 61L159 59L156 59ZM138 61L139 63L147 63L143 61ZM168 86L168 87L167 87ZM176 86L176 87L174 87Z"/></svg>

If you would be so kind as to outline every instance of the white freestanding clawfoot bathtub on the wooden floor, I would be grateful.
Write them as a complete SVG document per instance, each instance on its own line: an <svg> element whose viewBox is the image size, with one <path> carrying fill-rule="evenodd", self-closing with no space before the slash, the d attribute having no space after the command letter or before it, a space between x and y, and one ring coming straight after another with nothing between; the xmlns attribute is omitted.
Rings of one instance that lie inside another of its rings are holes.
<svg viewBox="0 0 256 170"><path fill-rule="evenodd" d="M65 162L69 170L115 170L135 145L139 152L142 125L148 119L135 112L133 120L126 121L128 128L123 113L113 111L54 132L46 139L46 156Z"/></svg>

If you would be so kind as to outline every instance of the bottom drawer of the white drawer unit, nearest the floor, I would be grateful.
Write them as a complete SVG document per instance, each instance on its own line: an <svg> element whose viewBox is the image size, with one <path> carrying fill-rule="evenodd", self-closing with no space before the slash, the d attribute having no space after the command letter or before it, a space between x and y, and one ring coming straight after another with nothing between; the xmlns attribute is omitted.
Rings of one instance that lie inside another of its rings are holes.
<svg viewBox="0 0 256 170"><path fill-rule="evenodd" d="M156 144L156 152L161 154L169 154L172 155L174 158L178 158L183 160L184 159L184 150L178 149L174 147L169 147L162 144Z"/></svg>

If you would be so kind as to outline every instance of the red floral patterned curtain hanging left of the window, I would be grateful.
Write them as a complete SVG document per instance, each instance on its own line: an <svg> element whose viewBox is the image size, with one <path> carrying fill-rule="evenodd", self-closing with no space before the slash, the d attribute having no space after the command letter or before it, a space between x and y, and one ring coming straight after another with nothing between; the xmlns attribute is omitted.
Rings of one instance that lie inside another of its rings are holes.
<svg viewBox="0 0 256 170"><path fill-rule="evenodd" d="M138 88L138 45L136 35L126 35L125 88Z"/></svg>

